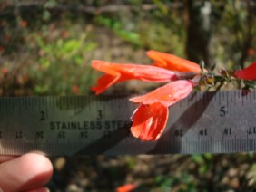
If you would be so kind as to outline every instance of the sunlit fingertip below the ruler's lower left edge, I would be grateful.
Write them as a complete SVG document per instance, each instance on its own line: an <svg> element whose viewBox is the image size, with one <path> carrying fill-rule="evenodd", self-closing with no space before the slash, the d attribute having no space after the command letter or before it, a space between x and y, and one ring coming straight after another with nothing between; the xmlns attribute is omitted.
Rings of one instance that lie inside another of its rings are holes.
<svg viewBox="0 0 256 192"><path fill-rule="evenodd" d="M48 158L29 153L0 165L0 188L22 191L43 187L52 174L53 166Z"/></svg>

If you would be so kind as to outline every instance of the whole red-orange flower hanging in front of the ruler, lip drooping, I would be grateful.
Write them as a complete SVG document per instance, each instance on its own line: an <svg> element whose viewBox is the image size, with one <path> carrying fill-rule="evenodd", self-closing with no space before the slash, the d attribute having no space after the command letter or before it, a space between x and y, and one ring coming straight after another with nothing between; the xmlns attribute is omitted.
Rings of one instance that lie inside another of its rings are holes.
<svg viewBox="0 0 256 192"><path fill-rule="evenodd" d="M133 115L133 136L146 141L159 139L167 123L168 107L187 97L193 86L191 81L179 80L131 98L130 101L142 103Z"/></svg>

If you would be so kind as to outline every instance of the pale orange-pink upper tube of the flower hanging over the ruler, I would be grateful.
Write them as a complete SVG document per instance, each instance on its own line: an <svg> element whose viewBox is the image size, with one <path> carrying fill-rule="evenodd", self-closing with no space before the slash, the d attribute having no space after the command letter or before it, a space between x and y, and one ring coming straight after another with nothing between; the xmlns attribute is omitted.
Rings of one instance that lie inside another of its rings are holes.
<svg viewBox="0 0 256 192"><path fill-rule="evenodd" d="M154 102L161 102L165 107L171 106L176 101L180 101L187 97L193 89L193 83L188 80L179 80L169 82L154 91L145 95L133 97L130 99L132 102L152 104Z"/></svg>

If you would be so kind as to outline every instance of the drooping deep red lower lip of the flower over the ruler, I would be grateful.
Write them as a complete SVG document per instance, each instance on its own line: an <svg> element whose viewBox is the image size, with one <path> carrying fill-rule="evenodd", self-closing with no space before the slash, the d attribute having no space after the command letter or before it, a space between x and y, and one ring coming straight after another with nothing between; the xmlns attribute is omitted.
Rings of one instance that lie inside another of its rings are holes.
<svg viewBox="0 0 256 192"><path fill-rule="evenodd" d="M168 108L160 102L140 105L134 114L131 132L135 138L144 141L159 139L166 126Z"/></svg>

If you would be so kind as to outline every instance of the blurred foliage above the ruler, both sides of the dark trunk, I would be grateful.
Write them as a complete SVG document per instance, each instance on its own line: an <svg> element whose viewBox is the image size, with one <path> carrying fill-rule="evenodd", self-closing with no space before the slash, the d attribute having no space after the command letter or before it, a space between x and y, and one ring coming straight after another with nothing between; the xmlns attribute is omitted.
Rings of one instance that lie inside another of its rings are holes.
<svg viewBox="0 0 256 192"><path fill-rule="evenodd" d="M192 24L186 2L3 1L0 68L5 74L0 80L5 80L0 93L85 94L97 74L89 67L92 59L146 63L149 49L186 57ZM202 49L208 50L206 67L237 69L256 59L252 1L195 1L191 6L199 16L198 33L209 38L203 45L197 37L202 47L191 49L199 57ZM140 56L133 50L141 51Z"/></svg>

